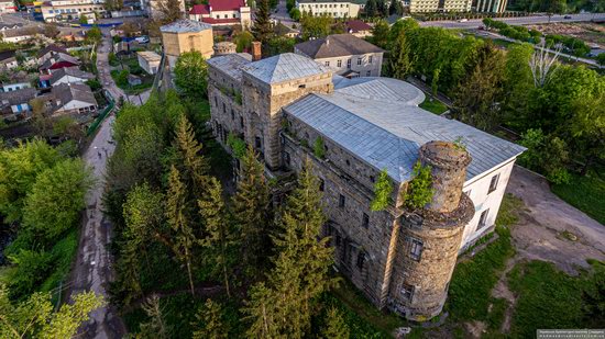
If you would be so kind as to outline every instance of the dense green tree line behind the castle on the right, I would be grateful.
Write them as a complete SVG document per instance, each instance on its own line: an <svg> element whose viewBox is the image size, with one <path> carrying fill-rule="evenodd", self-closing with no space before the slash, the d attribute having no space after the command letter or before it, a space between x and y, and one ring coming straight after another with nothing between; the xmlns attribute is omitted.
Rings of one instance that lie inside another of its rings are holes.
<svg viewBox="0 0 605 339"><path fill-rule="evenodd" d="M389 50L388 75L426 79L433 94L452 98L455 117L520 134L528 151L519 161L551 182L569 182L574 161L585 174L605 159L605 80L595 70L561 64L529 44L502 50L413 20L378 22L372 42Z"/></svg>

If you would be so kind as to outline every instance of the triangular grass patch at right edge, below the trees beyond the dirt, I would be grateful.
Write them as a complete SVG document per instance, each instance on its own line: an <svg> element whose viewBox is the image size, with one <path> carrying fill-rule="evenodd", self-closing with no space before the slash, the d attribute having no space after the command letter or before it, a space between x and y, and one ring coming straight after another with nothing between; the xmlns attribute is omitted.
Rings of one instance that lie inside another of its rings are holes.
<svg viewBox="0 0 605 339"><path fill-rule="evenodd" d="M605 171L601 176L605 176ZM572 173L570 183L553 184L551 190L572 206L605 225L605 180L596 172L590 172L585 177Z"/></svg>

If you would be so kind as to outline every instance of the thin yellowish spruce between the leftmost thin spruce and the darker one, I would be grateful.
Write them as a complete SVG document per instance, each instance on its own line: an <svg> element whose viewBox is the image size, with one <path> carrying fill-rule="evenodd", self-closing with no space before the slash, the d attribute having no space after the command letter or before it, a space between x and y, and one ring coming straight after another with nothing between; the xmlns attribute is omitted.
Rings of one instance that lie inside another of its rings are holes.
<svg viewBox="0 0 605 339"><path fill-rule="evenodd" d="M232 248L235 241L230 223L227 221L221 184L216 178L210 179L208 194L198 201L198 205L207 233L201 244L211 250L213 265L221 272L227 295L231 296L229 271L232 267Z"/></svg>

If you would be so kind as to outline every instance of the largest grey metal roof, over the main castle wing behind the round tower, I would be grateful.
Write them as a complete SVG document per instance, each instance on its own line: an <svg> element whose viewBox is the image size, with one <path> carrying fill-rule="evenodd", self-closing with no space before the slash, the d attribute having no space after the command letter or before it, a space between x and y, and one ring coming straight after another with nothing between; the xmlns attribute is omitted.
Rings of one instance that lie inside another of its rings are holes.
<svg viewBox="0 0 605 339"><path fill-rule="evenodd" d="M377 86L383 81L391 89L393 81L398 81L402 89L414 88L409 83L385 78L366 83ZM366 87L359 84L351 88L340 86L332 94L309 94L284 108L284 111L377 170L386 169L397 182L410 179L411 168L418 159L418 148L431 140L454 142L462 137L472 157L466 180L525 150L521 146L461 122L427 112L414 103L418 98L370 99L366 90ZM414 92L413 89L406 91Z"/></svg>

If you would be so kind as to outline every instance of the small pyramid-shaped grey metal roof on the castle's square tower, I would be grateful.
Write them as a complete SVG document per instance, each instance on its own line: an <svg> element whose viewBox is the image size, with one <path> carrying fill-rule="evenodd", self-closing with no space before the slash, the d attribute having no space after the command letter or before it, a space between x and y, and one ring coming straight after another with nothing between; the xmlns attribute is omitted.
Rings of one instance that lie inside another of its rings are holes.
<svg viewBox="0 0 605 339"><path fill-rule="evenodd" d="M278 83L330 72L328 67L294 53L284 53L251 63L242 67L242 70L266 83Z"/></svg>

